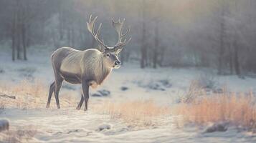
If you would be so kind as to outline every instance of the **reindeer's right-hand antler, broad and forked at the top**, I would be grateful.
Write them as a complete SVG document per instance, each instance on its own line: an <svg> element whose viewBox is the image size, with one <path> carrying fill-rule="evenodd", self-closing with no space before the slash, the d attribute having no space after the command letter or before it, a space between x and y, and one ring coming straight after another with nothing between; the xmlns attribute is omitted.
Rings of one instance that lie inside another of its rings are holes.
<svg viewBox="0 0 256 143"><path fill-rule="evenodd" d="M115 31L118 33L118 42L114 46L115 50L122 48L123 46L128 44L129 41L131 41L131 38L128 39L128 40L124 39L125 36L128 35L129 32L130 32L130 28L128 28L127 31L125 32L125 34L123 34L123 24L124 24L124 22L125 22L125 19L123 19L123 21L120 21L120 19L118 19L117 22L115 22L112 19L112 25L115 28Z"/></svg>

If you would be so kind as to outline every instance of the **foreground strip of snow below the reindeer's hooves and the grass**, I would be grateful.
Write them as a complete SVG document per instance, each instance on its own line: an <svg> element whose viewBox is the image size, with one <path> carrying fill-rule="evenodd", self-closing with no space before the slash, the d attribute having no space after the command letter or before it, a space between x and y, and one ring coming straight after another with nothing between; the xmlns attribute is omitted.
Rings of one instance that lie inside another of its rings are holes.
<svg viewBox="0 0 256 143"><path fill-rule="evenodd" d="M37 142L255 142L247 132L228 129L227 132L203 133L196 127L179 129L171 122L154 129L133 130L122 122L110 120L104 115L74 109L37 109L20 111L6 109L11 127L29 127L37 130ZM166 119L166 120L167 120ZM99 124L113 127L99 131Z"/></svg>

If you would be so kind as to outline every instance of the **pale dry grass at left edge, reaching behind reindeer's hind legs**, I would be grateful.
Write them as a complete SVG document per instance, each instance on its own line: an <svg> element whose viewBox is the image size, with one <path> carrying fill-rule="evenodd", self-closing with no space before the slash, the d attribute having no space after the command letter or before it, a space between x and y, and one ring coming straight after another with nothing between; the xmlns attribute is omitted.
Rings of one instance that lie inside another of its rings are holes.
<svg viewBox="0 0 256 143"><path fill-rule="evenodd" d="M18 84L14 83L1 83L0 84L0 94L6 94L7 96L15 97L11 99L8 97L0 97L1 107L9 108L19 108L19 109L34 109L34 108L44 108L47 104L47 97L49 92L49 87L44 84L42 80L23 80ZM52 106L56 107L54 101L54 95L52 96ZM75 107L75 101L72 99L65 99L60 97L60 104L62 107Z"/></svg>

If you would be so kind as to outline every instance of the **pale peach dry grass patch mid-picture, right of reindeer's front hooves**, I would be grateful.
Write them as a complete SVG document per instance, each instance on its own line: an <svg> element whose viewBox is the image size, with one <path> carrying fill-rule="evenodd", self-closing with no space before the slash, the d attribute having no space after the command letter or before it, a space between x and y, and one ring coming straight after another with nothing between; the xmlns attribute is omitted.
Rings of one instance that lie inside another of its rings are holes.
<svg viewBox="0 0 256 143"><path fill-rule="evenodd" d="M113 119L123 119L131 126L153 126L157 124L157 117L170 113L169 107L158 106L153 100L105 102L93 108L101 114L109 114Z"/></svg>

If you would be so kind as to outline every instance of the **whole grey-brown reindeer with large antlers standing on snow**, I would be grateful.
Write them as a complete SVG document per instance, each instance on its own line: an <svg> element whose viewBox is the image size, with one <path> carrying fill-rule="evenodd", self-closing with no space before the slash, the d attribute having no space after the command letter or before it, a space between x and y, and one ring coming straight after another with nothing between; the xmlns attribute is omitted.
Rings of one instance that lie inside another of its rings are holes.
<svg viewBox="0 0 256 143"><path fill-rule="evenodd" d="M112 19L112 25L118 33L118 42L113 47L107 46L103 39L100 40L99 34L102 24L100 24L95 33L96 19L97 16L95 19L92 19L92 15L90 15L90 19L87 21L87 29L93 35L94 39L98 41L99 49L79 51L70 47L62 47L52 54L55 81L49 87L47 108L49 108L52 93L54 92L57 108L60 109L59 92L62 82L65 80L70 84L82 84L82 94L77 109L80 109L82 103L85 102L86 111L89 99L89 87L98 87L108 77L112 69L118 69L120 67L121 62L118 59L118 54L122 51L123 46L131 41L131 38L128 40L125 38L130 31L129 28L123 34L125 19L123 21L120 21L120 19L114 21Z"/></svg>

